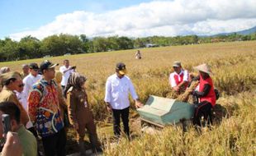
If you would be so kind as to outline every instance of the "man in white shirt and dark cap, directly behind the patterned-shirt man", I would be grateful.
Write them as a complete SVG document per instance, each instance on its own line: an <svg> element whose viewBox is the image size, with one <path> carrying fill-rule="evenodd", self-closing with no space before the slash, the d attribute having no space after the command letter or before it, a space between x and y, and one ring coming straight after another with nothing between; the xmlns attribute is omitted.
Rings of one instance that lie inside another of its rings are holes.
<svg viewBox="0 0 256 156"><path fill-rule="evenodd" d="M36 63L31 63L29 67L30 67L30 74L22 80L24 84L23 92L26 95L26 99L28 98L32 85L34 85L38 80L42 78L42 76L38 74L39 67Z"/></svg>

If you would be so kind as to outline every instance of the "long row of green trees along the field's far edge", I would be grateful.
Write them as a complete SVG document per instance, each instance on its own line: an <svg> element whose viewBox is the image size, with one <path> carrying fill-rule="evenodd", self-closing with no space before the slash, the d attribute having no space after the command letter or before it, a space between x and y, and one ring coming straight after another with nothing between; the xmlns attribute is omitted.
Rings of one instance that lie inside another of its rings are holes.
<svg viewBox="0 0 256 156"><path fill-rule="evenodd" d="M0 39L0 61L5 62L45 56L61 56L64 54L108 52L132 48L163 47L241 40L256 40L256 33L248 35L234 33L218 36L151 36L145 38L111 36L95 37L92 39L89 39L85 34L55 34L42 40L29 35L22 38L19 42L10 38Z"/></svg>

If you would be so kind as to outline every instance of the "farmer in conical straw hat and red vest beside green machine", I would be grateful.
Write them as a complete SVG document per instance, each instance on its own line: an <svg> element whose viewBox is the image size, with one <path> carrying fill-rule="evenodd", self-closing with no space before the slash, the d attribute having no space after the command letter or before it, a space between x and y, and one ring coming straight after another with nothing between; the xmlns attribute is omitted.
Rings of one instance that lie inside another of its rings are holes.
<svg viewBox="0 0 256 156"><path fill-rule="evenodd" d="M195 126L201 126L201 117L203 116L207 123L211 124L211 108L216 105L216 94L213 82L211 80L211 69L207 64L201 64L194 69L199 71L199 90L192 91L192 94L199 99L196 103L194 121Z"/></svg>

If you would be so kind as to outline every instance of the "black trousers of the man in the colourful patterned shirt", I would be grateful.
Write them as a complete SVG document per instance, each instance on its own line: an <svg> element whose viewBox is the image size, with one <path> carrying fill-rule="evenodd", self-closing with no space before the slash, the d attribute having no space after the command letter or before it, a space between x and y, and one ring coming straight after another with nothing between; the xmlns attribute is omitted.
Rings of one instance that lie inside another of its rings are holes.
<svg viewBox="0 0 256 156"><path fill-rule="evenodd" d="M64 156L66 155L65 146L67 141L64 128L55 135L42 137L46 156Z"/></svg>

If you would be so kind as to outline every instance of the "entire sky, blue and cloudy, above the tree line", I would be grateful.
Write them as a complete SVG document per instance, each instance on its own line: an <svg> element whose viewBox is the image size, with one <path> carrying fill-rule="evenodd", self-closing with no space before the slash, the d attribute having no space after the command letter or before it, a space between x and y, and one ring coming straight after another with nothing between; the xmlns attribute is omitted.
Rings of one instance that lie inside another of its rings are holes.
<svg viewBox="0 0 256 156"><path fill-rule="evenodd" d="M255 0L0 0L0 39L211 35L254 26Z"/></svg>

